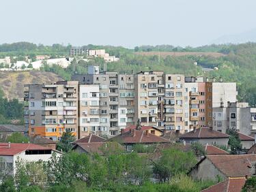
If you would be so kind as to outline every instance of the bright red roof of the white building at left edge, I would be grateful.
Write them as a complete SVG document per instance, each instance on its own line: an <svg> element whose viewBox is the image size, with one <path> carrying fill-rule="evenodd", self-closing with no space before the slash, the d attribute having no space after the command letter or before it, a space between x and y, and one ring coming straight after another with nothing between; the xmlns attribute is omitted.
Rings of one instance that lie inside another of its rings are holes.
<svg viewBox="0 0 256 192"><path fill-rule="evenodd" d="M3 156L13 156L23 152L24 150L51 150L51 148L40 146L38 144L27 143L11 143L9 148L8 143L0 143L0 155Z"/></svg>

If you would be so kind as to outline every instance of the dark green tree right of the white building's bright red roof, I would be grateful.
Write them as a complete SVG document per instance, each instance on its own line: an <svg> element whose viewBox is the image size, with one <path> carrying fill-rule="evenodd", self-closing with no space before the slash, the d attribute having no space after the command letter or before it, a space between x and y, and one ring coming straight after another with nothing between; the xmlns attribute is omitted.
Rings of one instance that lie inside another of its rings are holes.
<svg viewBox="0 0 256 192"><path fill-rule="evenodd" d="M72 142L74 142L75 137L70 131L64 132L61 136L61 140L57 142L57 150L63 152L68 152L72 149Z"/></svg>

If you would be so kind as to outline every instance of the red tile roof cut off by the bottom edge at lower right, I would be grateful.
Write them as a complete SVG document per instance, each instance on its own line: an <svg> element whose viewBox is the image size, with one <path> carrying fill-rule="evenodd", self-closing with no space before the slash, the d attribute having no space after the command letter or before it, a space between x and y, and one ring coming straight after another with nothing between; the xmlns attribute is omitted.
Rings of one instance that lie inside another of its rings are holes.
<svg viewBox="0 0 256 192"><path fill-rule="evenodd" d="M246 179L242 178L228 178L223 182L213 185L207 189L203 189L202 192L240 192L244 187Z"/></svg>

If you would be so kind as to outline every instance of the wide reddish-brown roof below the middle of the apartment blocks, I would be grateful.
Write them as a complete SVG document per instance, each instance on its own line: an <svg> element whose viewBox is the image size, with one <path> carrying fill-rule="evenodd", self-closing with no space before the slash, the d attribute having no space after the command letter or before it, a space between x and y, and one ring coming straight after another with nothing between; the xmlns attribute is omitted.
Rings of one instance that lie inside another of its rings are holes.
<svg viewBox="0 0 256 192"><path fill-rule="evenodd" d="M149 133L147 130L138 131L136 129L132 129L130 131L126 131L121 133L111 139L111 141L116 141L120 143L126 144L137 144L137 143L168 143L169 140L165 138L156 136L152 133Z"/></svg>

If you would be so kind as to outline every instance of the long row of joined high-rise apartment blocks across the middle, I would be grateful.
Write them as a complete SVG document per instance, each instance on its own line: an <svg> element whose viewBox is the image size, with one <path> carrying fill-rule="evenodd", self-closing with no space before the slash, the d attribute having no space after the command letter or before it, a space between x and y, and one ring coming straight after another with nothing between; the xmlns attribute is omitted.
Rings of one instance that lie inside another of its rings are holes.
<svg viewBox="0 0 256 192"><path fill-rule="evenodd" d="M63 131L117 135L129 125L185 133L212 126L212 108L236 101L236 83L185 78L164 71L117 74L89 66L72 81L25 86L29 134L58 140Z"/></svg>

